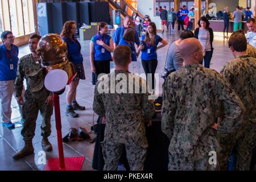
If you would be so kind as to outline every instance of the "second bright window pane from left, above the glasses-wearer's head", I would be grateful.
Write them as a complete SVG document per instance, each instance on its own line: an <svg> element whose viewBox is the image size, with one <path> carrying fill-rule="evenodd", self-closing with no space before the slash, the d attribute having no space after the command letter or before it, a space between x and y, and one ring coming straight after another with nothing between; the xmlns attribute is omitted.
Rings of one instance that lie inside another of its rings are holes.
<svg viewBox="0 0 256 182"><path fill-rule="evenodd" d="M16 0L9 0L9 7L10 7L10 18L11 18L11 31L13 32L14 36L19 35L18 31L18 20L16 14Z"/></svg>

